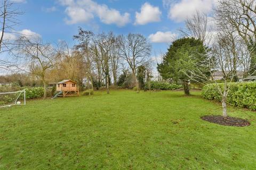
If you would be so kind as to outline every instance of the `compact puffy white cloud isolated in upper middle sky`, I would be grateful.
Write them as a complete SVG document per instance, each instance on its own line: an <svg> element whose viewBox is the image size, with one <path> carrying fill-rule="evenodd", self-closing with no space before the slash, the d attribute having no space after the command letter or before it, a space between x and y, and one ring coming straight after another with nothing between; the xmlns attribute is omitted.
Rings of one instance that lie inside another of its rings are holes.
<svg viewBox="0 0 256 170"><path fill-rule="evenodd" d="M136 21L135 24L144 25L149 22L159 22L161 21L162 12L159 10L159 7L145 3L141 6L140 13L136 12Z"/></svg>

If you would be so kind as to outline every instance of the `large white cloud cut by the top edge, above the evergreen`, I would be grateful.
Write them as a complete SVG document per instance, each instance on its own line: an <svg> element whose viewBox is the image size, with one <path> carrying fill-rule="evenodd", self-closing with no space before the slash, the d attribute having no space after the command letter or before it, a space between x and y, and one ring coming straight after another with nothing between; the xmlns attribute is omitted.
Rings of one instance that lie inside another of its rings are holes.
<svg viewBox="0 0 256 170"><path fill-rule="evenodd" d="M167 0L164 0L167 2ZM164 2L163 1L163 2ZM217 0L181 0L174 2L170 6L168 17L181 22L193 16L196 11L209 13L217 3Z"/></svg>

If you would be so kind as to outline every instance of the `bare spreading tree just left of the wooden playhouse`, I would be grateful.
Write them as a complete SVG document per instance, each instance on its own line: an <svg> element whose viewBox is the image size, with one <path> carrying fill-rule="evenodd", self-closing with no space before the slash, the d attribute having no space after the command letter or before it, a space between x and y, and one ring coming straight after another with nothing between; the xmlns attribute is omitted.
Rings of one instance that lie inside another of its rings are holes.
<svg viewBox="0 0 256 170"><path fill-rule="evenodd" d="M51 44L43 44L41 39L29 39L25 36L18 40L18 54L29 72L41 78L44 84L44 99L46 98L46 71L55 66L55 49Z"/></svg>

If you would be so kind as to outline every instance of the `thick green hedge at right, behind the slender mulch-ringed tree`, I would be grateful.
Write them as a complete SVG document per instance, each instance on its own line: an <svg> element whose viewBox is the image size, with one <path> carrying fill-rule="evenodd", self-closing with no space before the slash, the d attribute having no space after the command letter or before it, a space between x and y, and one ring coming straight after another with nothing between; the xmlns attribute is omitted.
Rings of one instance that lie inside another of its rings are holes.
<svg viewBox="0 0 256 170"><path fill-rule="evenodd" d="M202 90L205 99L221 101L222 97L217 89L223 90L223 83L207 84ZM227 103L231 106L256 110L256 82L230 83Z"/></svg>

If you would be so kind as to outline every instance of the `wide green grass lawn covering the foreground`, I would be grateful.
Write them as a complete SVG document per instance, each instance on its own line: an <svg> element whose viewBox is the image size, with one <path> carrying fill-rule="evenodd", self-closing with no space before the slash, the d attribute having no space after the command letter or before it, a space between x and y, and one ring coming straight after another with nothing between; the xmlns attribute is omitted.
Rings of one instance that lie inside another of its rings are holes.
<svg viewBox="0 0 256 170"><path fill-rule="evenodd" d="M0 109L0 169L255 169L255 112L229 107L251 126L221 126L199 92L110 93Z"/></svg>

